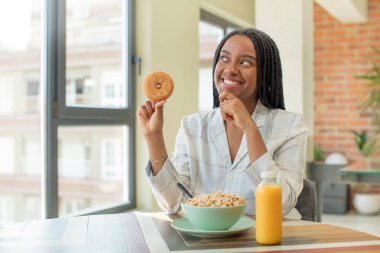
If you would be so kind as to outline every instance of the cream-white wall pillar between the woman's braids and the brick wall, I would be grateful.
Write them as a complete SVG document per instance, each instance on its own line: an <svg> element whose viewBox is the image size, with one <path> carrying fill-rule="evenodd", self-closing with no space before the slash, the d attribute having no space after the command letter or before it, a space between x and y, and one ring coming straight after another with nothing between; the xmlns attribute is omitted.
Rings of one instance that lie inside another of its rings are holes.
<svg viewBox="0 0 380 253"><path fill-rule="evenodd" d="M270 35L280 51L285 107L303 113L309 125L310 160L314 124L313 1L256 0L255 9L256 28Z"/></svg>

